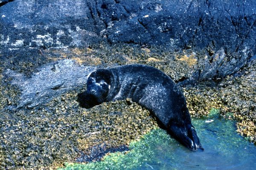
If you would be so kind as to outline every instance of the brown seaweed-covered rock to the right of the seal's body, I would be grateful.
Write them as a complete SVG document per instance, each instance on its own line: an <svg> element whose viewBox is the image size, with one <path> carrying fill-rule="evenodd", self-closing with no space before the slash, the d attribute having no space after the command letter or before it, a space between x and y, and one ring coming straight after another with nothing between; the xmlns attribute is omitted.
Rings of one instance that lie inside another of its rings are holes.
<svg viewBox="0 0 256 170"><path fill-rule="evenodd" d="M256 144L256 60L249 62L238 74L221 82L200 82L183 87L192 117L220 109L224 118L237 121L237 132Z"/></svg>

